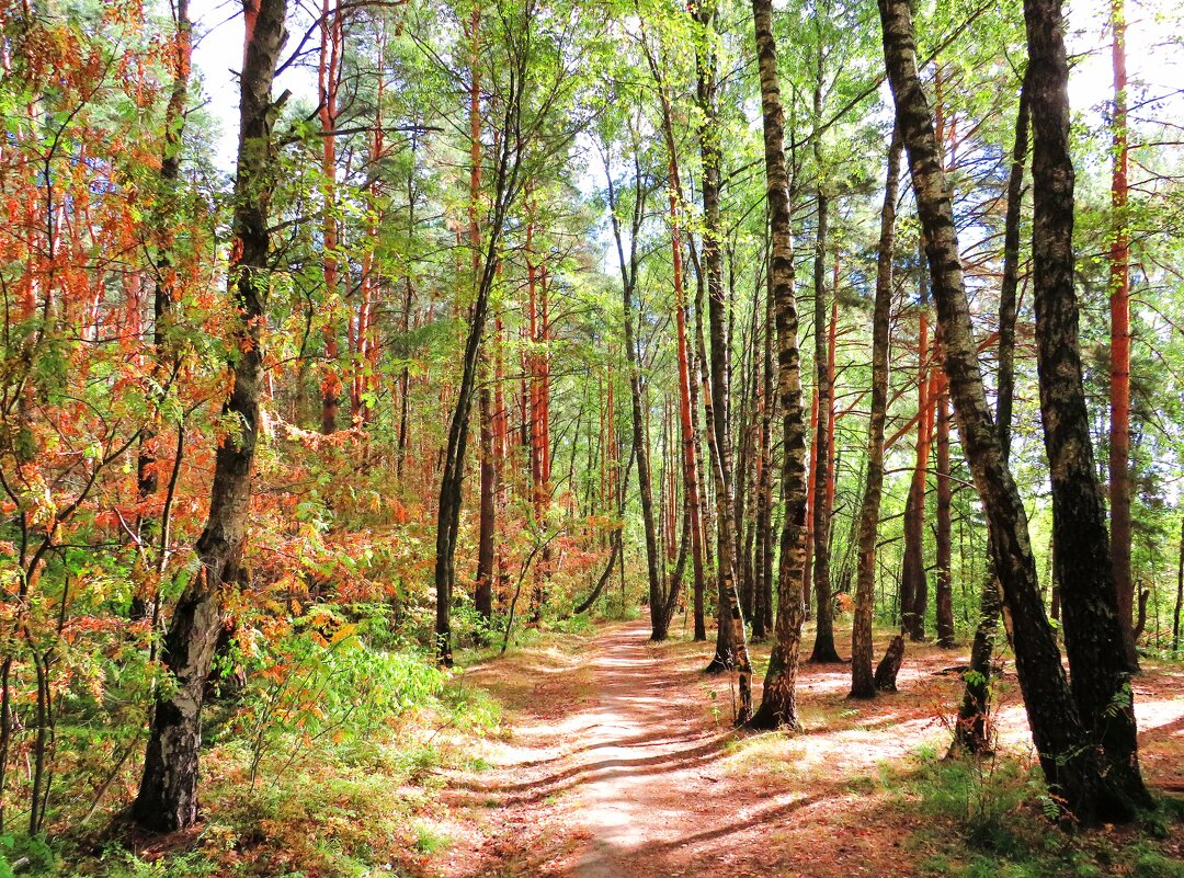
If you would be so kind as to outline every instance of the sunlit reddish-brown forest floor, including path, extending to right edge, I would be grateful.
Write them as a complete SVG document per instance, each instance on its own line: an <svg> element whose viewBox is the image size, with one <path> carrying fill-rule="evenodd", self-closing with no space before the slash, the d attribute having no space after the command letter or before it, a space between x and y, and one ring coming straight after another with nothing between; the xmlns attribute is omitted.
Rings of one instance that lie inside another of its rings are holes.
<svg viewBox="0 0 1184 878"><path fill-rule="evenodd" d="M848 665L806 664L799 677L805 731L748 735L731 728L729 677L702 673L710 645L651 644L648 634L642 621L612 624L574 641L546 638L459 674L461 685L503 703L506 731L474 743L480 753L469 768L442 779L444 807L431 827L442 843L420 864L423 874L971 874L971 852L964 858L965 845L952 844L965 832L963 818L1014 822L1018 809L1035 811L1035 787L1022 768L1032 754L1010 663L997 710L1008 758L934 793L918 777L926 764L938 770L950 740L961 685L954 669L966 661L965 648L910 644L901 691L869 702L847 698ZM886 639L877 638L877 654ZM767 654L767 645L753 651L758 679ZM1147 780L1178 796L1184 670L1148 667L1135 697ZM1000 792L996 773L1011 777L1011 793ZM1077 837L1066 843L1073 851L1050 856L1081 860L1066 874L1184 874L1184 826L1170 820L1156 834L1146 847L1139 829L1107 828L1100 840ZM1135 860L1090 871L1099 857L1109 861L1107 845L1128 843L1150 871ZM996 869L993 860L987 851L985 873L1029 873Z"/></svg>

